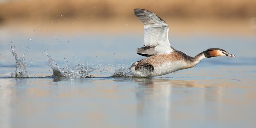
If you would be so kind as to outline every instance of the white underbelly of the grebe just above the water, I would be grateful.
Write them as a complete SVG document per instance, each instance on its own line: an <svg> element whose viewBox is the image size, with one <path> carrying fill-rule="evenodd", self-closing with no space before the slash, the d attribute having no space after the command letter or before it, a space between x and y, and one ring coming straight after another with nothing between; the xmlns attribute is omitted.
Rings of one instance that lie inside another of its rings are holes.
<svg viewBox="0 0 256 128"><path fill-rule="evenodd" d="M165 74L169 74L181 69L188 68L187 63L184 61L177 61L177 62L167 62L161 65L155 65L154 71L148 71L146 68L135 70L134 67L132 67L132 73L134 76L138 77L153 77L153 76L162 76Z"/></svg>

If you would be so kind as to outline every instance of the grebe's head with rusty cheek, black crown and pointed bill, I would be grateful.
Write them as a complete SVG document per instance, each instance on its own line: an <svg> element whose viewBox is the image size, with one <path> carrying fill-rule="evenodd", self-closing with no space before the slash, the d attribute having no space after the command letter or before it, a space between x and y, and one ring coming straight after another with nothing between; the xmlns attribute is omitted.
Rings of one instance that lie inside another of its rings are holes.
<svg viewBox="0 0 256 128"><path fill-rule="evenodd" d="M209 48L204 52L204 56L207 58L217 57L217 56L236 57L235 55L229 54L228 52L220 48Z"/></svg>

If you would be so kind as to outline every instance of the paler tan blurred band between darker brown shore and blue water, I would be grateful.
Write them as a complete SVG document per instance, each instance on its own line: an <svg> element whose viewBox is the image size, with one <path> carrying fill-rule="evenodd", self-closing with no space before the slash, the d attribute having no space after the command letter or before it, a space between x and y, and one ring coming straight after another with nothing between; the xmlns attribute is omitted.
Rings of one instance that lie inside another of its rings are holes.
<svg viewBox="0 0 256 128"><path fill-rule="evenodd" d="M251 19L170 19L163 18L169 25L170 34L217 34L217 35L256 35L256 18ZM13 33L102 33L130 34L143 33L143 25L134 16L131 19L85 19L55 18L47 20L10 19L0 24L2 31Z"/></svg>

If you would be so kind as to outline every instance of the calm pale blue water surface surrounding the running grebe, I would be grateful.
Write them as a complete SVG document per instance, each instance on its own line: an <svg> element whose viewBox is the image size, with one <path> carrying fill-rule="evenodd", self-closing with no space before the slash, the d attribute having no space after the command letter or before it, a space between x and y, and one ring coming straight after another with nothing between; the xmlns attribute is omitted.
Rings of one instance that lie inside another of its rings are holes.
<svg viewBox="0 0 256 128"><path fill-rule="evenodd" d="M255 126L255 36L172 34L172 46L188 55L217 47L238 57L206 58L194 68L138 79L108 76L143 59L135 51L142 33L84 35L1 36L0 127ZM61 67L108 68L91 72L96 78L4 78L16 67L10 42L36 76L52 75L44 50Z"/></svg>

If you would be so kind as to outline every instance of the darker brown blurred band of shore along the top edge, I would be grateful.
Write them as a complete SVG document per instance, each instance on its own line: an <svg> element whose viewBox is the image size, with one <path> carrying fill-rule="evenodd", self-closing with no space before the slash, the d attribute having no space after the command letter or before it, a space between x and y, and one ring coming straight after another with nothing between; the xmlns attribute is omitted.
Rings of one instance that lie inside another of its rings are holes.
<svg viewBox="0 0 256 128"><path fill-rule="evenodd" d="M15 0L0 3L0 21L6 19L132 18L143 8L163 18L233 19L256 17L255 0Z"/></svg>

